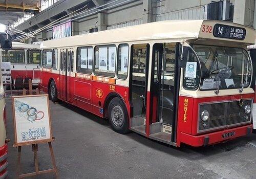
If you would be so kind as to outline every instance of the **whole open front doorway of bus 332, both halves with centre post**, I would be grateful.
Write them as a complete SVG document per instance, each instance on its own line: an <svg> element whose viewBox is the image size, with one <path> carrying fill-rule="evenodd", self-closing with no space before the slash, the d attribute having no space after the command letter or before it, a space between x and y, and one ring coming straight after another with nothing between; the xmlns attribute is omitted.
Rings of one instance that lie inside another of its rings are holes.
<svg viewBox="0 0 256 179"><path fill-rule="evenodd" d="M176 70L179 44L155 43L152 49L152 65L149 65L149 45L132 47L131 130L172 143L175 141L175 103L179 92L179 71Z"/></svg>

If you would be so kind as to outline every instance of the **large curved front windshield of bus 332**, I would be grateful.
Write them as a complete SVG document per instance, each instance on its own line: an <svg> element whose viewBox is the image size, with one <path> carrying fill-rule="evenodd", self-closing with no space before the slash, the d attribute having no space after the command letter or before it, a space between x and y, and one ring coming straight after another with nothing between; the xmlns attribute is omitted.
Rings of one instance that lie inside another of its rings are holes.
<svg viewBox="0 0 256 179"><path fill-rule="evenodd" d="M252 69L246 50L196 44L193 49L201 63L201 91L249 86Z"/></svg>

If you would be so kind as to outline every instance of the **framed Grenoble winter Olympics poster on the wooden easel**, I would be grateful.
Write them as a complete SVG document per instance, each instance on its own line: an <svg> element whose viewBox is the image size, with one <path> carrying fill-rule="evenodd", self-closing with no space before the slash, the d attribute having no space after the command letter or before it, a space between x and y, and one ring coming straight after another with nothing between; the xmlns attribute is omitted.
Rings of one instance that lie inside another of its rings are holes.
<svg viewBox="0 0 256 179"><path fill-rule="evenodd" d="M12 97L14 146L52 141L48 95Z"/></svg>

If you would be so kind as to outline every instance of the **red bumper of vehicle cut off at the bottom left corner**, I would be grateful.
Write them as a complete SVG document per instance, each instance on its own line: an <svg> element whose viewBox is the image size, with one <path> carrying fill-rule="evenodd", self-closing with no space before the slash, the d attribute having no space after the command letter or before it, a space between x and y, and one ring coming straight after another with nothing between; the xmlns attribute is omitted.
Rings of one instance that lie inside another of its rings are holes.
<svg viewBox="0 0 256 179"><path fill-rule="evenodd" d="M4 179L7 177L7 144L5 144L3 147L0 147L0 179Z"/></svg>

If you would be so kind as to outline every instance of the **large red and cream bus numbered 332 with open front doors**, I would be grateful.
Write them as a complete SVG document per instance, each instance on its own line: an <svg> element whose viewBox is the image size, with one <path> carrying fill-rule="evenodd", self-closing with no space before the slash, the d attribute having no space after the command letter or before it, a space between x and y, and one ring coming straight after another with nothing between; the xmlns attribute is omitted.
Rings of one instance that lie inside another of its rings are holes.
<svg viewBox="0 0 256 179"><path fill-rule="evenodd" d="M175 20L48 40L40 86L117 132L212 145L252 131L254 36L225 21Z"/></svg>

